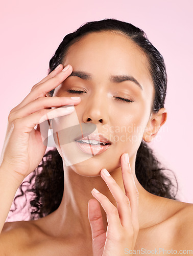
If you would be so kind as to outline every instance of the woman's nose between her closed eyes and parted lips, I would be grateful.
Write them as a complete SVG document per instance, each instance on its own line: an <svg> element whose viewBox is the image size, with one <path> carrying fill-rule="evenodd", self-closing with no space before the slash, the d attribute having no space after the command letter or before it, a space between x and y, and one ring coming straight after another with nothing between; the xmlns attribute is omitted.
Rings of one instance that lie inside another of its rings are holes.
<svg viewBox="0 0 193 256"><path fill-rule="evenodd" d="M92 122L94 124L108 122L107 97L104 93L93 92L85 103L83 122Z"/></svg>

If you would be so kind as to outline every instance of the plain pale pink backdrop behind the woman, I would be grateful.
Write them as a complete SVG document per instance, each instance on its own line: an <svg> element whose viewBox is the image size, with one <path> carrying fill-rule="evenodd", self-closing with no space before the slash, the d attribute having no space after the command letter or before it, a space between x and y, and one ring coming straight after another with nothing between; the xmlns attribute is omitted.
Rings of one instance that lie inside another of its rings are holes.
<svg viewBox="0 0 193 256"><path fill-rule="evenodd" d="M1 133L7 117L47 75L49 60L67 33L86 22L116 18L143 29L164 57L166 123L151 143L178 179L181 201L192 193L192 1L4 1L1 5Z"/></svg>

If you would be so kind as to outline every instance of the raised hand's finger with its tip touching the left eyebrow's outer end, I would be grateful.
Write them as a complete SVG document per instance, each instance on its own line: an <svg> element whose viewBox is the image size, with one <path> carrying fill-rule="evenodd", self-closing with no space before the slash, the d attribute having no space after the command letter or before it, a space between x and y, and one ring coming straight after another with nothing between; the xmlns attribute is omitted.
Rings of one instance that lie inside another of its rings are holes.
<svg viewBox="0 0 193 256"><path fill-rule="evenodd" d="M65 68L67 68L67 66ZM34 89L31 90L26 98L23 99L21 103L19 103L14 109L12 109L11 112L22 108L29 102L39 97L44 97L48 92L58 87L59 84L63 82L73 71L73 68L70 65L67 70L65 70L65 68L62 71L59 69L61 72L55 74L55 76L45 80L44 82L39 83L37 86L34 86Z"/></svg>

